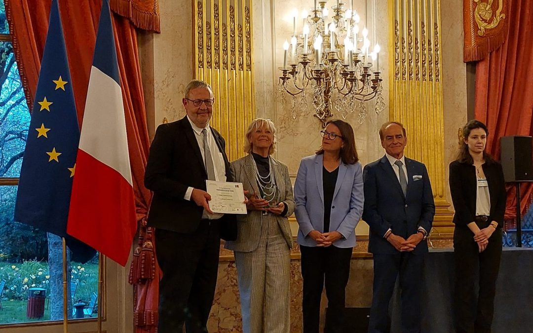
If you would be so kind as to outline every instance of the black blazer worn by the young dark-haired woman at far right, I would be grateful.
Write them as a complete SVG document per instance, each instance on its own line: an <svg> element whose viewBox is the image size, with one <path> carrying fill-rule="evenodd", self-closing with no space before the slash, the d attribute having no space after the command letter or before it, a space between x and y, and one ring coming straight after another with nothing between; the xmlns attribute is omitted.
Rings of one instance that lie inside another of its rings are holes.
<svg viewBox="0 0 533 333"><path fill-rule="evenodd" d="M486 161L483 173L487 177L490 194L490 221L498 222L498 227L503 226L505 213L505 180L502 165L496 161ZM478 196L477 177L475 166L458 160L450 163L450 193L454 202L456 226L467 228L467 224L475 221L475 206Z"/></svg>

